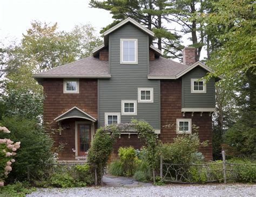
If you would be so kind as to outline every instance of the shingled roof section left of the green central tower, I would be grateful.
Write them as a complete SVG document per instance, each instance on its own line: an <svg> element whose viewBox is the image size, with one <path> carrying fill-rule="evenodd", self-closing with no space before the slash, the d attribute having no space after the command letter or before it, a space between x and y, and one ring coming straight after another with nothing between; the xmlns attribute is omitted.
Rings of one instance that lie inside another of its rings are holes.
<svg viewBox="0 0 256 197"><path fill-rule="evenodd" d="M40 80L40 78L111 78L111 75L109 61L91 56L35 74L33 77Z"/></svg>

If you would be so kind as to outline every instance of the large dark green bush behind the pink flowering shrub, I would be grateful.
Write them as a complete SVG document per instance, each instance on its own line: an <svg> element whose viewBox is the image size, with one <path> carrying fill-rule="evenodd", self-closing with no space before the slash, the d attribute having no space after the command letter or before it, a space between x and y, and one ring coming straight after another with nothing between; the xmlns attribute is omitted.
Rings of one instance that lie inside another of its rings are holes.
<svg viewBox="0 0 256 197"><path fill-rule="evenodd" d="M41 125L35 120L23 117L4 117L2 124L11 130L10 138L19 140L22 144L15 156L16 162L9 175L10 180L24 180L27 177L28 167L31 177L36 177L36 171L49 158L53 157L52 139L46 135ZM0 138L7 137L8 133L0 133Z"/></svg>

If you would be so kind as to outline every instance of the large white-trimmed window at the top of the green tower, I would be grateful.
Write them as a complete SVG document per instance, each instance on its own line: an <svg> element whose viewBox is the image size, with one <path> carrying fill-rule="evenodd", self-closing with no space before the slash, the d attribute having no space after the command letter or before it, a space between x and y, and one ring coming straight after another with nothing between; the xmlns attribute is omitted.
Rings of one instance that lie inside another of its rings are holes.
<svg viewBox="0 0 256 197"><path fill-rule="evenodd" d="M120 64L138 64L138 39L120 39Z"/></svg>

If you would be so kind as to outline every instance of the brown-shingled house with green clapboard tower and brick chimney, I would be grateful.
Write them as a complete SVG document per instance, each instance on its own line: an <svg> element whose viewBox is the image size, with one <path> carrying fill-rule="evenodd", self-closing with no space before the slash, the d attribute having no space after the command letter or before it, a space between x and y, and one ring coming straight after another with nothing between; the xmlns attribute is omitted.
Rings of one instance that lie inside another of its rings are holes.
<svg viewBox="0 0 256 197"><path fill-rule="evenodd" d="M212 70L196 62L195 48L184 48L180 64L161 57L153 39L152 31L127 18L104 32L104 44L91 57L34 75L46 96L44 123L63 128L53 135L56 144L65 145L59 159L83 157L97 128L132 118L149 122L163 142L199 126L200 140L209 141L200 151L212 159L214 83L220 78L201 79ZM176 126L164 128L167 124ZM139 148L142 142L127 131L112 156L129 145Z"/></svg>

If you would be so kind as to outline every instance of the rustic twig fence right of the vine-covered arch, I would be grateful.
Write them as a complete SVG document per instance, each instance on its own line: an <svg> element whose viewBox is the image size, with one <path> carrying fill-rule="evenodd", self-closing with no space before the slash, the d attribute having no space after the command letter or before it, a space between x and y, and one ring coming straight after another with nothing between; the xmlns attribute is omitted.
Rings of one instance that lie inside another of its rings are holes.
<svg viewBox="0 0 256 197"><path fill-rule="evenodd" d="M171 164L165 163L163 157L160 157L160 178L162 181L196 184L202 182L224 182L227 180L237 179L235 168L239 166L256 166L256 164L233 164L225 160L219 163L207 164Z"/></svg>

